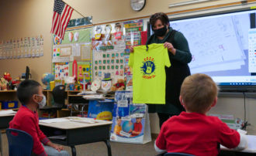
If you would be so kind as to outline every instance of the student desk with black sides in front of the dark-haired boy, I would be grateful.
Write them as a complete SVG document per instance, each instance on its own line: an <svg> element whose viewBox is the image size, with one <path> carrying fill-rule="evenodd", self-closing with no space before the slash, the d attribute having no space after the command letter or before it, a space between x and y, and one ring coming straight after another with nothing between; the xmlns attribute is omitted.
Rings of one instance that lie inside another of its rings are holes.
<svg viewBox="0 0 256 156"><path fill-rule="evenodd" d="M64 121L57 123L39 123L41 131L47 135L47 137L54 136L58 133L60 135L65 135L65 139L50 139L56 144L61 144L65 146L70 146L72 151L72 156L76 156L75 145L78 144L88 144L93 142L104 141L108 148L108 155L111 156L111 147L109 143L110 137L110 126L111 121L105 121L100 123L81 123L74 121Z"/></svg>

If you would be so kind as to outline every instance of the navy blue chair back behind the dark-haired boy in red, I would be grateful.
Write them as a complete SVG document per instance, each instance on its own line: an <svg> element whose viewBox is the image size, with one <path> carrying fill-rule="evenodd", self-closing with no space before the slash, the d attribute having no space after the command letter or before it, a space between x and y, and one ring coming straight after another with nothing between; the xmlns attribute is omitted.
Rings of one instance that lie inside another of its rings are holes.
<svg viewBox="0 0 256 156"><path fill-rule="evenodd" d="M30 156L33 149L33 138L25 131L6 129L9 143L9 156Z"/></svg>

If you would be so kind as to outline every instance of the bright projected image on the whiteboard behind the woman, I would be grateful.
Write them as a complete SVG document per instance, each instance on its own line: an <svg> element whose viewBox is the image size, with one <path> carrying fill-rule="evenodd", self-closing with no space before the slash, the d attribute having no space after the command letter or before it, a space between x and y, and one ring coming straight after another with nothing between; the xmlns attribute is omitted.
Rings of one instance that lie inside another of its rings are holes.
<svg viewBox="0 0 256 156"><path fill-rule="evenodd" d="M191 73L251 76L254 73L248 68L251 14L255 11L171 21L171 27L188 39L192 53Z"/></svg>

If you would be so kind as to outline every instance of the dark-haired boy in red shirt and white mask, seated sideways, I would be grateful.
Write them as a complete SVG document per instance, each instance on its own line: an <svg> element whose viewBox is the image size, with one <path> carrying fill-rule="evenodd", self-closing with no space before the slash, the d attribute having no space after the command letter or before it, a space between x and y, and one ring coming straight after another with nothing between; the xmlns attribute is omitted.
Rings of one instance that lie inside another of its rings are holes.
<svg viewBox="0 0 256 156"><path fill-rule="evenodd" d="M9 128L26 131L33 137L33 154L68 156L69 154L63 151L62 146L53 144L40 131L37 108L46 104L46 97L43 95L40 83L34 80L22 81L17 90L17 97L22 106L9 123Z"/></svg>

